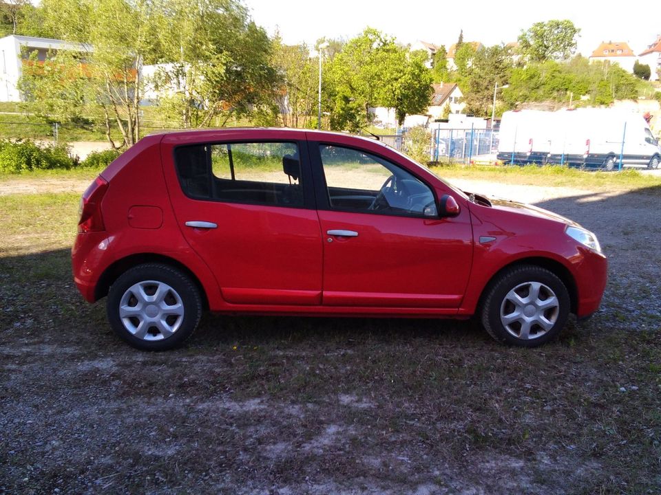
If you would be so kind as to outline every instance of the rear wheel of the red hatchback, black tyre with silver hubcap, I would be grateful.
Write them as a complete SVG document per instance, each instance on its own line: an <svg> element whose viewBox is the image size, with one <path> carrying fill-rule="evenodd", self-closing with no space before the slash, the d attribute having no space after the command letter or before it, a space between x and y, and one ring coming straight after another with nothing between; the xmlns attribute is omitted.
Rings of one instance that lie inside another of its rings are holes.
<svg viewBox="0 0 661 495"><path fill-rule="evenodd" d="M120 338L142 351L167 351L189 338L202 316L200 291L174 267L145 263L109 289L107 316Z"/></svg>

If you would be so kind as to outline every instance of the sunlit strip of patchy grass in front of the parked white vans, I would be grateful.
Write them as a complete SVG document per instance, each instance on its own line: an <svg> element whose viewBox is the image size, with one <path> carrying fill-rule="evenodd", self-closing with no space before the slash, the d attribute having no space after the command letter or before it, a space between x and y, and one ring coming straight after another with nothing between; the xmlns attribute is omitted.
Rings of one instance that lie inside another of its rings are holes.
<svg viewBox="0 0 661 495"><path fill-rule="evenodd" d="M585 189L621 190L661 186L661 177L645 175L638 170L622 172L588 172L562 166L431 166L439 177L525 184L530 186L569 186Z"/></svg>

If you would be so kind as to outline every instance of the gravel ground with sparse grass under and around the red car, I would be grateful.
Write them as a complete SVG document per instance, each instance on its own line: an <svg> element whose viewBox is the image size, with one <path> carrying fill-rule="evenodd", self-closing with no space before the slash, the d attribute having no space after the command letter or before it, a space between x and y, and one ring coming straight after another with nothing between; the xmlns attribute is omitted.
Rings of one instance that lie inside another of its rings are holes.
<svg viewBox="0 0 661 495"><path fill-rule="evenodd" d="M140 353L35 236L0 259L0 493L661 492L660 190L455 182L596 232L600 312L533 351L460 322L205 316ZM87 181L45 184L24 186Z"/></svg>

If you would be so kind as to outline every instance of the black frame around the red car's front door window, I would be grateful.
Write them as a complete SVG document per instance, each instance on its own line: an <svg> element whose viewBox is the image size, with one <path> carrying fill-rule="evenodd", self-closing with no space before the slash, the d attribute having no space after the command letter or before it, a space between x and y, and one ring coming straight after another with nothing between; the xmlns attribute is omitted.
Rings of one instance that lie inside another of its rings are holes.
<svg viewBox="0 0 661 495"><path fill-rule="evenodd" d="M367 151L363 148L359 148L358 146L351 146L344 143L340 144L329 141L308 141L310 164L312 166L313 177L315 180L315 197L317 199L317 210L337 211L337 212L346 212L346 213L376 214L376 215L389 216L389 217L406 217L406 218L430 219L430 220L440 218L438 212L436 215L434 215L434 217L428 217L427 215L421 213L420 214L397 213L397 212L380 211L380 210L361 210L359 208L337 208L330 206L330 199L328 198L328 184L326 184L326 174L324 173L322 154L321 151L319 150L319 147L324 145L336 146L337 148L346 148L353 151L357 151L359 153L363 153L364 155L368 155L368 156L371 155L373 157L382 159L385 162L388 162L394 166L402 168L403 170L406 170L407 173L410 173L410 175L421 181L422 184L424 184L429 188L429 190L432 192L432 195L434 196L434 203L437 205L437 208L439 205L439 198L437 197L436 188L432 187L429 184L429 181L423 179L416 173L413 173L408 167L402 166L398 162L395 162L390 158L384 157L384 155L380 155L379 153L374 153L373 151Z"/></svg>

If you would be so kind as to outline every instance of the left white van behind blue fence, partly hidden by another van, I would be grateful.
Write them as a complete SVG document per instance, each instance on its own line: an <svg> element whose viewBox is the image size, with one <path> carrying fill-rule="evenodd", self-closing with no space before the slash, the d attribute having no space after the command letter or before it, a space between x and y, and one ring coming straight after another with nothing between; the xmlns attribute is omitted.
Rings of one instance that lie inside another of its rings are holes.
<svg viewBox="0 0 661 495"><path fill-rule="evenodd" d="M554 112L506 111L499 130L497 159L517 165L545 164L556 126Z"/></svg>

